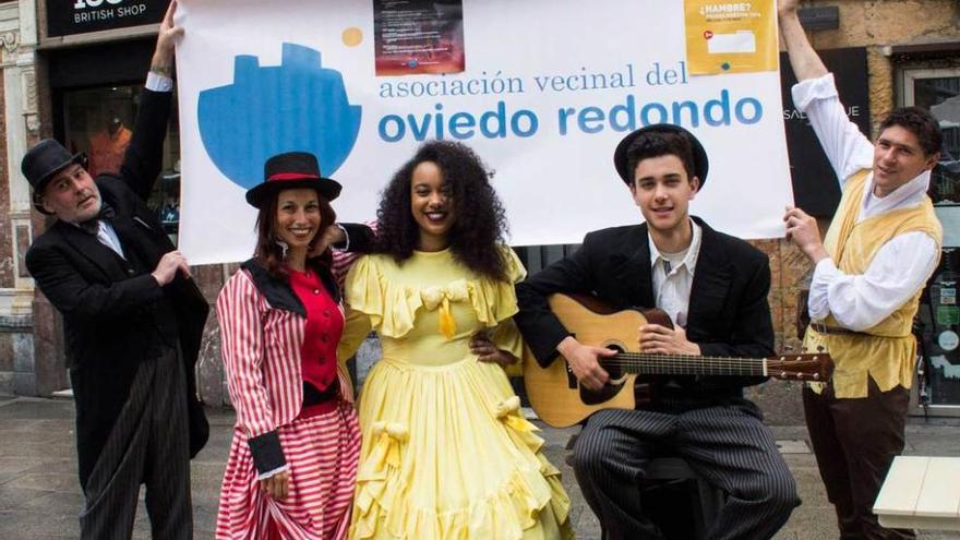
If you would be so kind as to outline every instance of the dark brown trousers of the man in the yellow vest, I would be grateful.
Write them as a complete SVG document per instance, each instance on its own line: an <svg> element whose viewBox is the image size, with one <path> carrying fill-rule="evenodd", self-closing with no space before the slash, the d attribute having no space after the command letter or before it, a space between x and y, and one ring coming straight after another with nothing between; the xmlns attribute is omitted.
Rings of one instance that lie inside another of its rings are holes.
<svg viewBox="0 0 960 540"><path fill-rule="evenodd" d="M841 540L912 539L912 530L885 529L874 501L893 457L903 452L910 391L880 392L869 380L866 397L837 398L803 391L803 411L827 497L837 509Z"/></svg>

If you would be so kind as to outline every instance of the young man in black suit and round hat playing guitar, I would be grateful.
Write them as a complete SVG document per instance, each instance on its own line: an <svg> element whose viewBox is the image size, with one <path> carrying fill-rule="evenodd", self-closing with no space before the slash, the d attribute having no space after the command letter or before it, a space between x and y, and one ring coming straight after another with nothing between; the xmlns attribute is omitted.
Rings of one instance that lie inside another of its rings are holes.
<svg viewBox="0 0 960 540"><path fill-rule="evenodd" d="M743 240L691 217L707 179L707 154L686 130L649 125L617 146L614 164L645 224L590 232L576 253L517 286L517 325L538 361L562 355L571 372L599 389L612 351L580 344L550 311L556 292L593 295L609 305L659 308L673 328L638 328L650 353L765 358L773 353L769 262ZM560 360L562 361L562 360ZM637 410L602 410L584 427L574 470L607 538L661 538L640 503L638 480L653 457L679 455L728 493L710 539L771 537L799 504L793 478L743 398L758 377L662 376Z"/></svg>

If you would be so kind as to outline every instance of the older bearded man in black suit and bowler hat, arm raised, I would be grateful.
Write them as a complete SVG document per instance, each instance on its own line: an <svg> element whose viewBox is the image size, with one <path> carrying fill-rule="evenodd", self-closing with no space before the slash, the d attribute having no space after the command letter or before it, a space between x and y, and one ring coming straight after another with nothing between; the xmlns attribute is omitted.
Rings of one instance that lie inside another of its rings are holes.
<svg viewBox="0 0 960 540"><path fill-rule="evenodd" d="M57 220L26 265L63 314L76 403L81 536L130 538L141 483L153 538L193 536L190 457L208 427L194 364L208 311L190 267L146 206L171 107L176 1L160 25L133 139L117 175L46 140L23 159L34 205Z"/></svg>

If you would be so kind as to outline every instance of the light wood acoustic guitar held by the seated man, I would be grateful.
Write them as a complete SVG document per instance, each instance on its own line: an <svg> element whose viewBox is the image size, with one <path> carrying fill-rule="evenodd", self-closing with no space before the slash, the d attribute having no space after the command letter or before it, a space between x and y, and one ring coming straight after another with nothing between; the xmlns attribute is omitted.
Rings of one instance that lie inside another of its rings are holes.
<svg viewBox="0 0 960 540"><path fill-rule="evenodd" d="M824 352L771 358L727 358L640 352L638 328L645 324L673 327L660 310L614 311L592 297L552 295L550 309L584 345L617 351L600 359L610 374L599 391L580 386L566 360L541 368L524 348L524 385L537 415L554 428L566 428L602 409L634 409L649 400L649 385L638 375L770 376L784 381L827 381L833 361ZM639 403L638 403L639 400Z"/></svg>

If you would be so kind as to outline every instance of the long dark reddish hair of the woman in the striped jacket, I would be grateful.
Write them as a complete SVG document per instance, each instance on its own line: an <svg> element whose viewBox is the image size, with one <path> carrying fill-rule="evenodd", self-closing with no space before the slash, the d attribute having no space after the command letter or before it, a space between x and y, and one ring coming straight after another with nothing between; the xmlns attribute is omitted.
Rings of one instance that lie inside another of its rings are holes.
<svg viewBox="0 0 960 540"><path fill-rule="evenodd" d="M274 279L287 283L290 278L289 273L284 264L284 249L277 243L280 235L277 232L277 201L283 190L273 190L267 195L263 205L260 206L260 213L256 215L256 248L253 251L253 259L259 265L266 268L267 273ZM316 202L320 205L320 227L316 235L311 241L311 245L327 226L333 225L337 220L337 214L331 207L326 199L317 193ZM326 250L320 256L308 259L307 266L320 273L324 267L329 268L333 262L333 255Z"/></svg>

